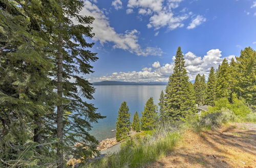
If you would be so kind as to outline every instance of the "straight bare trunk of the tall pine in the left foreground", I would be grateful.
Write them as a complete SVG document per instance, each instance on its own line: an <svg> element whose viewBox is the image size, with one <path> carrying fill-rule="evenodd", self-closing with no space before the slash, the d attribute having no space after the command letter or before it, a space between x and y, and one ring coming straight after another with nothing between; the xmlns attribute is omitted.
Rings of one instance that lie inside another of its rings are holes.
<svg viewBox="0 0 256 168"><path fill-rule="evenodd" d="M62 2L59 0L59 6L62 8ZM61 21L58 23L58 28L61 31L62 30L62 23ZM63 150L62 150L62 144L63 144L63 105L62 105L62 95L63 95L63 89L62 89L62 60L63 60L63 53L62 53L62 43L63 43L63 37L62 32L58 35L58 52L57 52L57 93L59 96L59 101L57 103L57 137L59 138L60 143L57 146L57 156L59 158L58 160L58 166L59 168L63 167Z"/></svg>

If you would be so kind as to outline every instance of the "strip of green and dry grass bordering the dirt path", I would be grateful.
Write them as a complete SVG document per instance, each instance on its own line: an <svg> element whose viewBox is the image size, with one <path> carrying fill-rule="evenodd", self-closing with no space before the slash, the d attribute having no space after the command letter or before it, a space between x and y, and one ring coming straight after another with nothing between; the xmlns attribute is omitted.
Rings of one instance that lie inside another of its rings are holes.
<svg viewBox="0 0 256 168"><path fill-rule="evenodd" d="M255 122L255 119L255 113L240 117L233 111L222 108L220 111L188 117L180 122L160 122L153 131L139 133L127 140L117 154L83 167L141 167L166 156L185 137L184 132L188 129L199 133L201 130L217 129L228 122Z"/></svg>

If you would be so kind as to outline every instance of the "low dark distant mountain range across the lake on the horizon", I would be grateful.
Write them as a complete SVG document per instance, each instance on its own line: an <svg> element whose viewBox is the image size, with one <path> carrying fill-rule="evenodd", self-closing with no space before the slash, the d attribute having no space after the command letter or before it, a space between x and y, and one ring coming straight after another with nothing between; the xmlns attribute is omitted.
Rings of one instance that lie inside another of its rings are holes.
<svg viewBox="0 0 256 168"><path fill-rule="evenodd" d="M127 82L127 81L111 81L111 80L104 80L100 82L94 82L94 86L99 85L167 85L167 82L160 82L160 81L150 81L150 82Z"/></svg>

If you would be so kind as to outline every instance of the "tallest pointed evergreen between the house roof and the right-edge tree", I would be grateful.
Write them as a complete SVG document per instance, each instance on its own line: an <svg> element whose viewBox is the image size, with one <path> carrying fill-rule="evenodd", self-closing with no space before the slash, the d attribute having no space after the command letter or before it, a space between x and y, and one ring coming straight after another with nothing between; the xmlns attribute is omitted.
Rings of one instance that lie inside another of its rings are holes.
<svg viewBox="0 0 256 168"><path fill-rule="evenodd" d="M230 70L226 59L223 60L217 77L216 97L230 98Z"/></svg>

